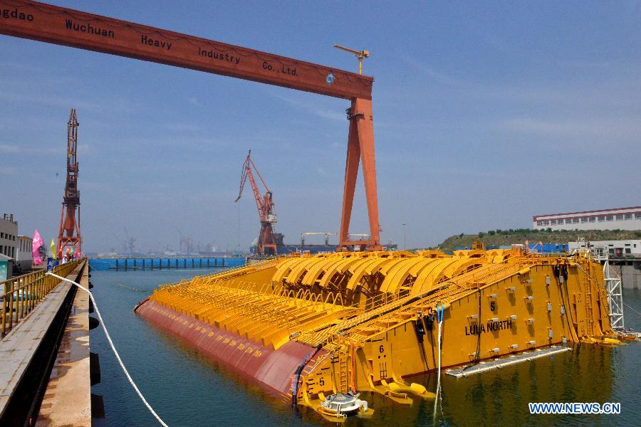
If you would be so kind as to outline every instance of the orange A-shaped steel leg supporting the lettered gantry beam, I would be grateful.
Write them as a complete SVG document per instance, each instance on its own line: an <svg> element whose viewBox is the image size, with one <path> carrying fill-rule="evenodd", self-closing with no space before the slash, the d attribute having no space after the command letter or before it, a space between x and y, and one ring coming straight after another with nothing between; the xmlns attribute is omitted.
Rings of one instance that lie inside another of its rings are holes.
<svg viewBox="0 0 641 427"><path fill-rule="evenodd" d="M344 251L349 246L368 246L369 249L380 249L380 224L378 222L378 196L376 190L376 161L374 152L374 119L372 117L372 100L356 98L352 100L349 112L350 132L348 153L345 162L345 189L343 192L343 213L340 218L340 236L338 250ZM365 199L368 204L370 221L370 240L349 241L350 219L358 164L363 161L363 181L365 181Z"/></svg>

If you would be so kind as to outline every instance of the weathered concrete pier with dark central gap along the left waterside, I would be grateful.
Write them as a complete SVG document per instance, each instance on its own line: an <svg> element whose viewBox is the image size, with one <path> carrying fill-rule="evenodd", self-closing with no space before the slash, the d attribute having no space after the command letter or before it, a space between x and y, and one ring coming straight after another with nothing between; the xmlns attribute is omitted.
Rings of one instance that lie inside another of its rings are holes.
<svg viewBox="0 0 641 427"><path fill-rule="evenodd" d="M83 275L86 277L87 265L86 262L80 263L67 278L78 281ZM77 310L73 315L79 317L74 316L71 322L67 322L76 296L75 286L66 282L59 283L0 341L0 425L33 425L41 399L44 399L43 402L51 406L43 408L43 414L51 415L51 411L55 411L57 415L58 411L63 411L65 413L60 415L66 418L56 418L56 421L43 425L90 426L90 403L87 404L90 402L89 362L88 357L85 361L83 356L85 350L80 348L85 347L88 353L88 327L82 325L83 317L87 316L86 312L83 315L82 307L88 304L83 302L83 299L88 295L78 295ZM86 322L88 325L88 319ZM66 325L69 326L67 330ZM62 339L65 335L67 344ZM68 357L68 361L64 360L65 357ZM57 363L54 362L56 360ZM73 363L66 367L67 362ZM59 377L67 376L71 367L73 374L68 375L66 381L62 381L61 391L52 393L58 386L55 384L56 381L49 381L54 365L59 368L55 371ZM82 371L85 370L87 381L81 380L84 376ZM69 381L72 381L73 376L78 381L73 381L72 385ZM47 387L48 383L51 387ZM73 394L63 397L63 393L70 391L72 386ZM58 402L62 399L71 400L67 406L60 406ZM68 421L58 423L58 419Z"/></svg>

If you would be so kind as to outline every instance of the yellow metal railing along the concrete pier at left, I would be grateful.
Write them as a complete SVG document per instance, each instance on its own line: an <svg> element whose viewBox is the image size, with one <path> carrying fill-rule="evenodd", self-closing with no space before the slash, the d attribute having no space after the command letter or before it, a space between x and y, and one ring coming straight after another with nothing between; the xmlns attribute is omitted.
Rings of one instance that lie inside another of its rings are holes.
<svg viewBox="0 0 641 427"><path fill-rule="evenodd" d="M66 277L84 259L64 263L53 268L53 273ZM61 280L46 275L46 270L16 276L0 282L0 337L23 320L41 302L46 295L55 289Z"/></svg>

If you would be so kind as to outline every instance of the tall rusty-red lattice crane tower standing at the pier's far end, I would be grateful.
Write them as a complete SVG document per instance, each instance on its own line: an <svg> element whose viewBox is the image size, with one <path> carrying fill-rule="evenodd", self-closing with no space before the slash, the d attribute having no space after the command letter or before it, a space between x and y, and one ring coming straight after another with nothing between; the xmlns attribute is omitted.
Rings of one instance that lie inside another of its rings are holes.
<svg viewBox="0 0 641 427"><path fill-rule="evenodd" d="M83 238L80 235L80 191L78 191L78 157L76 155L78 154L79 125L75 108L72 108L67 123L67 179L58 230L58 257L60 258L66 247L73 248L73 253L82 253Z"/></svg>

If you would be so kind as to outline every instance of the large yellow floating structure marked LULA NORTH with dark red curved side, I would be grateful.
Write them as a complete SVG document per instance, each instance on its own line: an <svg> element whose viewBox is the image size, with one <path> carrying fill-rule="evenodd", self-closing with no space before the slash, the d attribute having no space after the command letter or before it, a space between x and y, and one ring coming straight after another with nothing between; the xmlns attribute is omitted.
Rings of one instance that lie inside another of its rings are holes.
<svg viewBox="0 0 641 427"><path fill-rule="evenodd" d="M599 263L518 248L276 258L165 285L137 312L317 410L339 392L432 396L407 377L439 368L439 326L441 368L618 342Z"/></svg>

